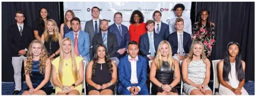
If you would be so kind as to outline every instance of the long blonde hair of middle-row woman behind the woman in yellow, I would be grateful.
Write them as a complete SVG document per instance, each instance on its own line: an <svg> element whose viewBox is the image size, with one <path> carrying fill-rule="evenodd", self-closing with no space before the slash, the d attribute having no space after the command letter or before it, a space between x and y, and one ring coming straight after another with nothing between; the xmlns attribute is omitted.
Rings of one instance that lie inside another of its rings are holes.
<svg viewBox="0 0 256 96"><path fill-rule="evenodd" d="M46 21L46 25L45 25L45 29L44 29L44 33L43 33L44 40L49 41L49 32L48 32L48 29L47 29L48 22L53 22L53 24L54 24L53 41L58 41L58 39L59 39L59 28L57 26L57 23L53 19L48 19Z"/></svg>

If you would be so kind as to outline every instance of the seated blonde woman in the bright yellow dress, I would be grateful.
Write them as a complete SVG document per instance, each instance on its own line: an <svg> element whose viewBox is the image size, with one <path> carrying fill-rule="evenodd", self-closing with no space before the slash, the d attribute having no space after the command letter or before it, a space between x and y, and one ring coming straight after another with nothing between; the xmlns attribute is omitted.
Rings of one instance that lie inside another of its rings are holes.
<svg viewBox="0 0 256 96"><path fill-rule="evenodd" d="M76 56L72 40L64 38L60 44L60 57L53 60L53 83L57 95L82 94L84 81L83 58Z"/></svg>

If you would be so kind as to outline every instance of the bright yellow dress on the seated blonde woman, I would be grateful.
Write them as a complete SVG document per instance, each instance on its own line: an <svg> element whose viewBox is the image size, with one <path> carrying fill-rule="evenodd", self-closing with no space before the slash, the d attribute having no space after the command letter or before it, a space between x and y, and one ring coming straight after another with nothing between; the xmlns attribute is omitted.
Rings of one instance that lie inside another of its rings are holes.
<svg viewBox="0 0 256 96"><path fill-rule="evenodd" d="M82 57L77 56L75 58L75 62L77 63L77 70L79 69L79 62L82 62L82 61L83 61ZM54 65L54 67L56 69L56 73L59 74L58 70L59 70L60 57L55 58L54 61L52 61L51 63ZM64 86L71 86L71 85L73 85L75 80L72 77L73 77L73 74L72 74L71 58L63 59L62 85L64 85ZM78 77L79 77L79 75L78 75ZM60 82L59 75L57 75L57 79ZM76 86L73 89L77 89L77 91L79 91L79 93L82 94L82 89L83 89L82 88L82 83L79 84L78 86ZM55 94L57 94L60 91L61 91L61 88L56 86Z"/></svg>

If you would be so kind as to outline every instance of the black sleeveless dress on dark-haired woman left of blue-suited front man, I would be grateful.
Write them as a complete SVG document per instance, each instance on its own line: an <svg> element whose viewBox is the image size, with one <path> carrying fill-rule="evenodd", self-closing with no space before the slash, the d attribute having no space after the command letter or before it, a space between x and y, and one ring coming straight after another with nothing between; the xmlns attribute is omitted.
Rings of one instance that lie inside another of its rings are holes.
<svg viewBox="0 0 256 96"><path fill-rule="evenodd" d="M95 71L95 76L91 76L91 80L96 83L97 85L102 86L104 83L109 83L112 80L112 75L108 71L108 64L107 63L97 63L96 65L96 71ZM109 86L105 89L110 89L112 92L114 92L114 83L112 86ZM103 89L96 89L93 86L88 87L88 92L96 90L101 92Z"/></svg>

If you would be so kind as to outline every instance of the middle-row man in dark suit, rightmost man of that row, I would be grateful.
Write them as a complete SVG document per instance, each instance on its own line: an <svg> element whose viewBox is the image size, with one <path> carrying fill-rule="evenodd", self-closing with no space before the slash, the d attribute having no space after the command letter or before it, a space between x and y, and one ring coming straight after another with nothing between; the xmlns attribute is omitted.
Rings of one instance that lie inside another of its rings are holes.
<svg viewBox="0 0 256 96"><path fill-rule="evenodd" d="M182 18L176 19L175 27L177 31L168 36L168 42L172 47L173 58L179 62L187 57L192 40L189 33L183 32L184 20Z"/></svg>

